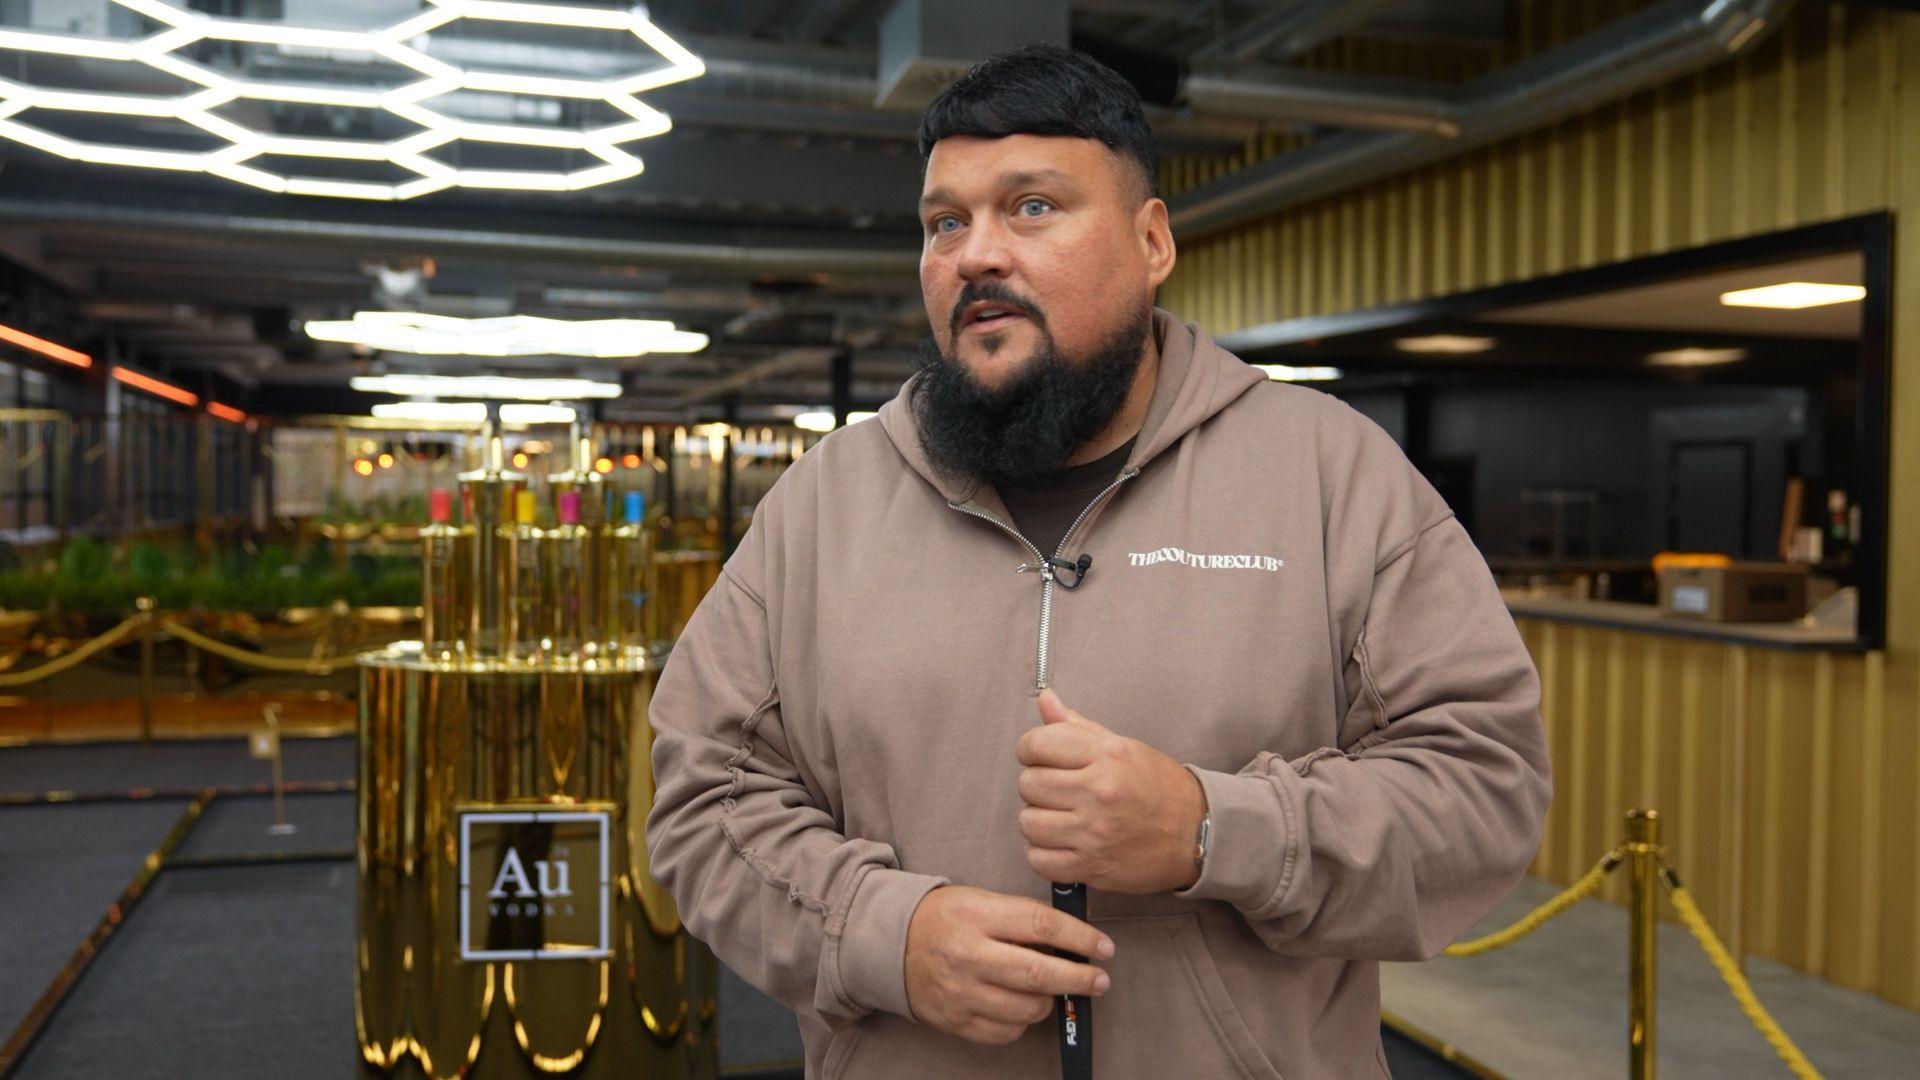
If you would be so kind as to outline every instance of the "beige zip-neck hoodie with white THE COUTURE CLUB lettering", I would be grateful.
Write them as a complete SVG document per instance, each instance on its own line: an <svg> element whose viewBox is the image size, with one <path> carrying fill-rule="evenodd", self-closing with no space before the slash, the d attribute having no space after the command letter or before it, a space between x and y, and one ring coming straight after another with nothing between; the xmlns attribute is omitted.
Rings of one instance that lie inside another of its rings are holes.
<svg viewBox="0 0 1920 1080"><path fill-rule="evenodd" d="M1384 1076L1382 959L1423 959L1534 855L1534 665L1492 575L1394 440L1156 311L1121 480L1035 573L1000 500L935 473L906 392L760 503L653 700L653 872L789 1005L818 1078L1046 1078L912 1020L927 890L1048 897L1014 746L1037 686L1188 765L1212 855L1183 892L1091 892L1114 938L1094 1076Z"/></svg>

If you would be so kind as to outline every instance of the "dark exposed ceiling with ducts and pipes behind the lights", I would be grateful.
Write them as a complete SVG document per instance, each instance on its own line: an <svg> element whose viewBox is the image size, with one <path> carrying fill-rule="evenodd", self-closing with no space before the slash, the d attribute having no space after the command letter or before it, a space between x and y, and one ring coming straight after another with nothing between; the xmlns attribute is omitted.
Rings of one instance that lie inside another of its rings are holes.
<svg viewBox="0 0 1920 1080"><path fill-rule="evenodd" d="M355 25L424 10L420 0L190 6L265 21L324 12ZM94 8L102 17L115 12L113 0L17 0L0 6L0 23L44 29L38 17L48 12L67 17ZM309 319L367 307L664 317L712 336L697 356L486 363L493 371L620 369L626 394L609 405L616 415L699 419L730 400L751 421L764 405L818 405L837 356L852 359L856 405L891 396L912 369L925 315L914 273L918 108L876 108L900 69L900 31L889 37L885 27L889 13L899 21L897 12L908 12L925 31L956 8L939 0L655 0L649 8L660 29L705 60L707 75L641 94L672 115L674 129L626 144L645 160L639 177L564 194L444 190L382 204L83 165L0 140L0 256L71 296L63 327L48 325L38 307L36 325L261 413L365 411L371 398L346 388L351 375L478 367L474 359L361 356L300 331ZM977 0L966 6L968 23L952 31L954 40L922 38L906 65L924 67L929 79L950 75L954 63L1033 33L1021 27L1058 17L1075 46L1142 86L1164 152L1231 152L1261 133L1319 136L1348 127L1417 135L1440 152L1444 135L1434 125L1453 123L1446 115L1452 85L1354 79L1296 61L1325 42L1377 38L1411 42L1411 56L1463 56L1452 69L1465 77L1492 67L1513 44L1509 8L1509 0ZM996 44L989 31L1012 38ZM630 63L578 35L541 29L449 33L434 48L449 61L534 75L591 77ZM182 52L236 77L315 77L307 71L315 58L300 50L200 42ZM925 56L947 52L956 56ZM40 60L27 63L0 48L0 77L58 83ZM1183 83L1181 71L1196 77ZM480 117L501 102L468 104ZM563 127L597 123L589 106L540 104L549 106ZM273 102L250 102L250 110L246 123L290 135L315 135L321 125L323 135L351 136L365 119ZM84 117L67 119L79 125L75 133L86 131ZM98 123L154 146L182 138L177 121L157 117ZM445 154L480 150L463 140ZM561 161L555 154L578 152L528 152L528 160ZM19 317L0 298L0 321Z"/></svg>

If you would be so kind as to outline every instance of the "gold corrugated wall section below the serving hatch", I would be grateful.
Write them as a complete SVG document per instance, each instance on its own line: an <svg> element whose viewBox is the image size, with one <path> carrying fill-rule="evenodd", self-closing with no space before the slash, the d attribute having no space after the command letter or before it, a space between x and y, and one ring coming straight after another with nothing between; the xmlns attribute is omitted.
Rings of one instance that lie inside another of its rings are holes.
<svg viewBox="0 0 1920 1080"><path fill-rule="evenodd" d="M1536 874L1578 878L1628 809L1657 807L1682 880L1728 940L1914 1003L1920 711L1889 698L1887 653L1519 626L1555 765ZM1603 896L1624 903L1626 880Z"/></svg>

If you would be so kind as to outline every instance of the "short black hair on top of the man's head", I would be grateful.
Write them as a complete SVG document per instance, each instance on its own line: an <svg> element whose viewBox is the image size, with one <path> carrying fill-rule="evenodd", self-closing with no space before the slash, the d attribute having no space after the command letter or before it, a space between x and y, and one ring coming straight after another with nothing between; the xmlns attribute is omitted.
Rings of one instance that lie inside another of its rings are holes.
<svg viewBox="0 0 1920 1080"><path fill-rule="evenodd" d="M1133 160L1160 194L1160 146L1140 92L1112 67L1058 44L1027 44L975 63L920 117L920 160L952 135L1069 135Z"/></svg>

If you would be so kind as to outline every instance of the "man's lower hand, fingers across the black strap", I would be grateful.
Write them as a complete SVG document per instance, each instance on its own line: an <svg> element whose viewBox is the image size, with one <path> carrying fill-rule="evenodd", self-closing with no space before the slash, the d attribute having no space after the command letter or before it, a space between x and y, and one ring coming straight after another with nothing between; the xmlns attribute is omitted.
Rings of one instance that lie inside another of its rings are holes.
<svg viewBox="0 0 1920 1080"><path fill-rule="evenodd" d="M1112 957L1092 926L1023 896L941 886L906 926L906 1005L950 1036L1006 1045L1064 994L1106 994L1108 974L1046 949Z"/></svg>

